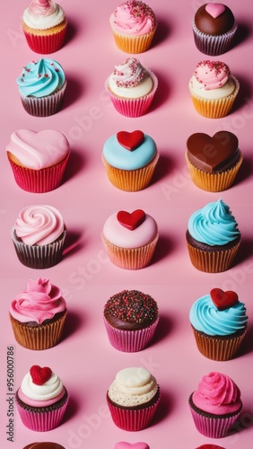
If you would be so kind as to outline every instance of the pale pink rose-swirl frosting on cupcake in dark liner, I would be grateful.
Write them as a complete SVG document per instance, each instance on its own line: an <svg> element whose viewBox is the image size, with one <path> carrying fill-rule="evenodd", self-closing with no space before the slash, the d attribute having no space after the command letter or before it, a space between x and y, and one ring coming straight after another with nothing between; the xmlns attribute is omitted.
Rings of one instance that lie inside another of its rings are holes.
<svg viewBox="0 0 253 449"><path fill-rule="evenodd" d="M64 220L56 207L27 206L17 217L16 235L27 245L47 245L55 242L64 231Z"/></svg>

